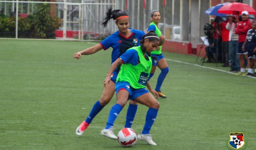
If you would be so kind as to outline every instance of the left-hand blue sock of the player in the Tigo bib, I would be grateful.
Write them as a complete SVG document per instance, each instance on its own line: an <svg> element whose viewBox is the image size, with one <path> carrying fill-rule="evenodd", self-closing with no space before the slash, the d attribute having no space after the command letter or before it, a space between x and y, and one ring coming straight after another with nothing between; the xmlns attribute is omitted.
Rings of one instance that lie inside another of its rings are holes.
<svg viewBox="0 0 256 150"><path fill-rule="evenodd" d="M114 125L114 122L119 115L120 111L123 109L123 107L120 104L115 104L109 112L109 119L107 121L105 129L109 129L111 126Z"/></svg>

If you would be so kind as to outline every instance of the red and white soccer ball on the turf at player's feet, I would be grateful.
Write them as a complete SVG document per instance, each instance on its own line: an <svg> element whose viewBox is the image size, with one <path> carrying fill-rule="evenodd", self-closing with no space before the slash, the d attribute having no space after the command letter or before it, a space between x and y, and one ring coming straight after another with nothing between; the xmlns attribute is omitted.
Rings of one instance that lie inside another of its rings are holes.
<svg viewBox="0 0 256 150"><path fill-rule="evenodd" d="M117 135L118 143L123 147L131 147L136 143L137 135L131 128L124 128Z"/></svg>

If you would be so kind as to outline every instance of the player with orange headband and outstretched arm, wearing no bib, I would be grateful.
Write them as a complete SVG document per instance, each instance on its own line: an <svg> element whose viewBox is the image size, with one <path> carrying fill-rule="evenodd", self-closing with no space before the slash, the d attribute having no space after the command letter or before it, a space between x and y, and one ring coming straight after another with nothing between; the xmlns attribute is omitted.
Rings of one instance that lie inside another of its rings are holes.
<svg viewBox="0 0 256 150"><path fill-rule="evenodd" d="M100 42L99 44L84 49L82 51L79 51L73 55L73 58L80 59L81 55L90 55L94 54L97 51L101 49L108 49L110 47L113 48L112 50L112 62L111 64L119 57L121 56L127 49L133 47L133 46L139 46L139 41L142 39L142 36L145 34L143 31L130 29L129 27L129 20L128 15L126 12L123 12L121 10L113 10L110 8L108 12L106 13L106 16L104 18L104 22L102 25L106 27L110 19L114 19L115 23L118 27L118 31L107 37L105 40ZM91 121L94 119L94 117L101 111L101 109L107 105L110 100L112 99L114 93L115 93L115 82L116 77L119 72L120 66L116 67L115 71L111 75L111 82L110 85L107 88L103 89L102 95L100 100L98 100L93 108L90 111L90 114L88 117L83 121L76 129L76 134L81 136L85 129L89 126ZM151 89L151 87L148 87L148 89L151 92L154 92L154 90ZM125 123L125 127L131 127L132 121L134 119L134 116L136 114L137 110L137 103L130 101L130 105L128 107L127 111L127 119Z"/></svg>

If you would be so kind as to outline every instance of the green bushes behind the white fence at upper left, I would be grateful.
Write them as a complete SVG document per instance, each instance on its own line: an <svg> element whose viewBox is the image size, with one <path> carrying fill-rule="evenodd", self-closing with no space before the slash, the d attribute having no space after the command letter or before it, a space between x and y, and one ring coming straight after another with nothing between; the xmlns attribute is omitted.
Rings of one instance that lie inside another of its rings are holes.
<svg viewBox="0 0 256 150"><path fill-rule="evenodd" d="M60 27L61 19L50 15L50 5L38 5L35 15L18 17L18 36L35 38L54 38L55 30ZM15 36L16 17L0 16L0 36Z"/></svg>

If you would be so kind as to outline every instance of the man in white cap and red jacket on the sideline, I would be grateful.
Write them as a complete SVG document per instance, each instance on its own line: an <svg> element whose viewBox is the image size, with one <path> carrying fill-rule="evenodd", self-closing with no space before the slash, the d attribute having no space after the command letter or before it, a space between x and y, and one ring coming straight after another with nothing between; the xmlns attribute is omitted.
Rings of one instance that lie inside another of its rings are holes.
<svg viewBox="0 0 256 150"><path fill-rule="evenodd" d="M238 34L238 57L240 62L240 72L236 75L245 75L244 69L244 55L247 54L246 51L242 50L243 43L246 39L247 31L251 29L252 23L248 19L249 13L247 11L242 11L242 21L238 23L236 34ZM247 55L246 55L247 56ZM247 59L247 58L246 58Z"/></svg>

